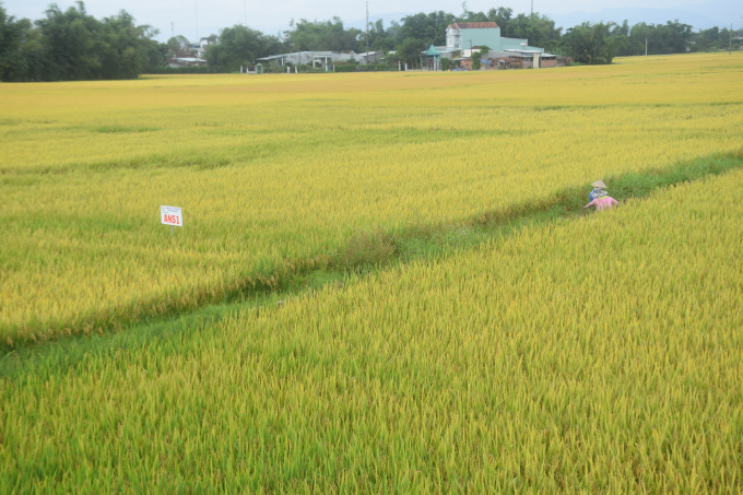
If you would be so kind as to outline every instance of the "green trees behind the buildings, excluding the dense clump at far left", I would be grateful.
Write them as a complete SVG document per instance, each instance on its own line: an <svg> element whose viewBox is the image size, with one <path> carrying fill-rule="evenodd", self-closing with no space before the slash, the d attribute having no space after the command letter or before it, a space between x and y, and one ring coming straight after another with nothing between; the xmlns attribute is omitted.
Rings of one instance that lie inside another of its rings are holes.
<svg viewBox="0 0 743 495"><path fill-rule="evenodd" d="M638 23L634 26L629 26L627 21L623 24L587 22L563 33L563 28L555 26L555 22L546 15L514 14L512 9L505 7L473 12L463 3L460 15L444 11L421 12L405 16L399 23L393 21L388 26L381 20L369 23L368 47L385 54L394 51L394 56L387 57L388 62L393 64L398 60L415 63L420 52L429 45L446 45L447 26L455 22L495 22L500 26L504 37L526 38L531 46L570 56L575 61L586 64L611 63L617 56L645 55L646 40L648 55L661 55L685 52L687 47L692 51L727 48L731 37L728 28L694 32L691 25L677 21L665 24ZM253 42L247 43L247 39ZM292 21L291 28L282 33L281 37L267 37L260 32L236 25L223 30L220 42L207 50L210 64L220 70L236 71L240 66L250 64L259 56L271 52L366 51L367 34L362 30L344 27L339 17L329 21L303 19ZM271 49L266 49L268 46Z"/></svg>

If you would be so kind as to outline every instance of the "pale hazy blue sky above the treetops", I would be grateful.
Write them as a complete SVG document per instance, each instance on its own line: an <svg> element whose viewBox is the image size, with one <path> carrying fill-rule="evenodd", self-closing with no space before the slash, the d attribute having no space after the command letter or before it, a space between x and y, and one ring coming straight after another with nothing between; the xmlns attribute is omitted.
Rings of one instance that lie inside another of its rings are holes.
<svg viewBox="0 0 743 495"><path fill-rule="evenodd" d="M44 16L50 0L0 0L10 15L36 20ZM57 0L61 9L72 0ZM416 12L444 10L459 14L461 0L370 0L369 19L390 19ZM510 7L515 13L529 12L531 0L469 0L471 11L487 12L493 7ZM364 0L89 0L87 12L96 17L116 14L123 9L138 24L160 30L157 39L172 34L196 40L197 36L219 34L221 28L247 24L268 34L288 28L292 19L327 20L340 16L346 25L364 25ZM681 17L695 27L729 25L738 28L743 22L743 0L534 0L534 11L549 14L558 25L573 26L582 20L600 21L616 17L661 23ZM173 23L173 24L172 24Z"/></svg>

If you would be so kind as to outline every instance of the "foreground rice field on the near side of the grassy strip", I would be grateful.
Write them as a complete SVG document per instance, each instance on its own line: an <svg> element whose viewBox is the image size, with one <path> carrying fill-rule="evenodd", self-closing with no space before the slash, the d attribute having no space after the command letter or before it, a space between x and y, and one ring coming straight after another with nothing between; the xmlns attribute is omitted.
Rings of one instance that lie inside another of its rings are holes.
<svg viewBox="0 0 743 495"><path fill-rule="evenodd" d="M742 213L738 170L5 361L0 490L740 493Z"/></svg>

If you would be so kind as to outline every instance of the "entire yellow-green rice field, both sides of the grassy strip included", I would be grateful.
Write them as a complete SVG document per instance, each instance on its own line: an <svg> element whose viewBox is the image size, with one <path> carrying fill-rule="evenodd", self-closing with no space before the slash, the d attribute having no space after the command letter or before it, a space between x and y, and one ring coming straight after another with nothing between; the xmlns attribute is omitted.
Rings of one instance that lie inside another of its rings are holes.
<svg viewBox="0 0 743 495"><path fill-rule="evenodd" d="M0 85L0 493L743 492L742 74Z"/></svg>

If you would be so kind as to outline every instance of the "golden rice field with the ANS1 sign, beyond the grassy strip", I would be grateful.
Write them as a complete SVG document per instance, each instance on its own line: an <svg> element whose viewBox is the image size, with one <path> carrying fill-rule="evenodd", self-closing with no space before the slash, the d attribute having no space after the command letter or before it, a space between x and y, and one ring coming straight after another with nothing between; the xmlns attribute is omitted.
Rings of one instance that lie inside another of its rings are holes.
<svg viewBox="0 0 743 495"><path fill-rule="evenodd" d="M193 309L322 269L359 232L740 150L742 55L680 60L3 84L0 341ZM161 204L184 208L175 236Z"/></svg>

